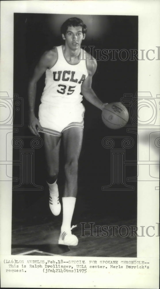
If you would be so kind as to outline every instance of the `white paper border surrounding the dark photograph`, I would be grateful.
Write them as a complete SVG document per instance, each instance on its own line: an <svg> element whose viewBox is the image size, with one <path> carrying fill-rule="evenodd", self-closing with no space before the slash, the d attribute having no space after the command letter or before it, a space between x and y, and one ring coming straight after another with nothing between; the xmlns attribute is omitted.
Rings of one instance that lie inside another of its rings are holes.
<svg viewBox="0 0 160 289"><path fill-rule="evenodd" d="M112 0L112 1L1 1L1 79L0 92L7 91L9 97L13 96L13 32L14 13L48 13L48 14L91 14L91 15L135 15L138 16L138 51L155 50L160 46L160 3L158 0ZM153 51L150 51L153 55ZM159 103L160 103L160 56L154 55L154 60L138 61L138 91L151 92L157 104L157 119L154 127L146 126L145 129L138 125L140 142L138 149L143 169L138 175L138 222L137 226L157 226L159 222L159 181L143 181L143 175L148 175L148 142L143 141L156 131L159 134ZM1 148L4 147L5 135L1 134ZM10 132L10 131L8 131ZM12 129L11 129L12 132ZM11 133L12 135L12 133ZM3 153L3 149L2 152ZM157 151L152 150L154 160L159 160ZM12 176L12 150L7 155L10 166L9 176ZM1 166L2 167L2 166ZM0 169L2 169L0 167ZM157 169L158 170L158 169ZM142 175L141 175L142 174ZM137 258L151 262L148 271L127 271L117 269L114 273L104 276L101 271L92 271L83 276L63 274L48 276L37 273L15 273L12 276L5 272L3 260L11 257L11 224L12 224L12 181L1 182L1 286L2 287L29 287L29 288L159 288L159 238L138 238ZM155 189L156 188L156 189ZM157 232L156 232L157 233ZM13 256L12 256L13 257ZM17 257L17 256L16 256ZM22 259L22 256L19 256ZM34 260L35 256L23 256ZM43 256L45 259L46 256ZM46 257L48 258L48 257ZM62 257L62 259L65 257ZM76 257L74 257L76 260ZM79 259L86 259L83 257ZM36 256L40 260L40 256ZM102 258L105 259L105 258ZM108 258L112 260L112 258ZM124 258L114 258L114 260ZM132 259L132 258L131 258ZM65 278L63 277L65 276ZM80 277L80 278L79 278ZM54 278L54 282L53 282ZM77 283L78 278L78 283ZM132 282L130 281L132 280ZM65 287L66 286L66 287Z"/></svg>

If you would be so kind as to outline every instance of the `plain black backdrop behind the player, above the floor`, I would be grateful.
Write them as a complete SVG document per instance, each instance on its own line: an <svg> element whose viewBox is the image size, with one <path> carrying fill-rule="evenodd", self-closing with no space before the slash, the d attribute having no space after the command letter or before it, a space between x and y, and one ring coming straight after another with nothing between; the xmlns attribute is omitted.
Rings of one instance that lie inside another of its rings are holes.
<svg viewBox="0 0 160 289"><path fill-rule="evenodd" d="M14 136L32 137L28 129L28 79L41 54L53 46L61 45L60 26L70 17L79 17L87 25L88 31L82 45L90 51L95 46L93 56L97 58L95 49L138 49L138 17L137 16L105 16L105 15L66 15L66 14L14 14L14 94L24 101L23 126L18 127ZM125 57L125 55L123 56ZM97 61L97 71L93 77L92 88L103 102L120 101L125 93L133 94L138 90L138 62ZM45 75L37 84L36 114L44 87ZM137 136L127 132L127 127L119 130L108 129L101 120L101 111L83 100L85 105L85 128L83 146L79 159L78 195L74 216L79 218L88 212L95 212L103 217L116 216L119 219L136 218L137 216L137 184L127 182L127 177L137 176L137 166L126 166L125 181L134 190L102 191L102 186L111 182L111 149L102 146L106 136L130 136L134 146L126 149L126 160L137 160ZM19 114L14 115L14 124L19 121ZM132 127L129 119L128 125ZM136 128L135 128L136 132ZM27 147L26 138L26 147ZM28 147L29 148L29 147ZM13 150L13 160L19 159L19 149ZM64 185L63 150L60 155L60 173L58 184L60 195ZM13 166L13 176L20 182L20 168ZM43 147L35 149L34 180L43 190L27 190L24 184L21 190L13 190L12 226L28 223L41 223L52 219L49 211L48 188L45 183L45 159ZM136 180L136 179L135 179ZM17 186L17 182L13 182ZM23 188L25 190L23 190ZM117 187L118 188L118 187ZM88 220L94 221L94 220ZM136 224L135 224L136 225Z"/></svg>

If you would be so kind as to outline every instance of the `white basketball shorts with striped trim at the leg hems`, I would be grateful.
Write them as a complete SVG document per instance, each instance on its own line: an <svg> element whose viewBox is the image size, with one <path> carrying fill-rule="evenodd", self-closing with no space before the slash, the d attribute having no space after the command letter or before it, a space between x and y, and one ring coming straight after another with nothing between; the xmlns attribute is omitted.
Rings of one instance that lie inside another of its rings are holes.
<svg viewBox="0 0 160 289"><path fill-rule="evenodd" d="M63 131L70 127L84 127L85 108L79 103L72 108L59 108L41 103L39 106L39 122L43 130L39 132L61 136Z"/></svg>

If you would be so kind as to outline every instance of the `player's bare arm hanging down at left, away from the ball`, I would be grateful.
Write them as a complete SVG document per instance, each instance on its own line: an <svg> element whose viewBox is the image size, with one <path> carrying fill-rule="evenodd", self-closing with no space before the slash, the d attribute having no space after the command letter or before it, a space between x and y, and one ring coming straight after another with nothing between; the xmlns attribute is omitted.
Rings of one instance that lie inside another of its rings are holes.
<svg viewBox="0 0 160 289"><path fill-rule="evenodd" d="M37 81L41 78L43 73L47 70L47 68L51 68L57 61L57 51L56 48L46 51L41 59L39 60L38 64L35 67L33 76L31 77L28 85L28 103L29 103L29 129L31 132L36 135L40 136L37 131L37 126L39 129L43 130L41 127L39 120L35 116L35 98L36 98L36 89L37 89Z"/></svg>

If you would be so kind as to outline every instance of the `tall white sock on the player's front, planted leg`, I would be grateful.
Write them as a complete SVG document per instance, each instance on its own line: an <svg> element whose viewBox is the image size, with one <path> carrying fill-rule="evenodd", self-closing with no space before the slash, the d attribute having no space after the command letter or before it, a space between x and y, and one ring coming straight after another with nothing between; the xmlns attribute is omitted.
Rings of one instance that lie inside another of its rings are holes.
<svg viewBox="0 0 160 289"><path fill-rule="evenodd" d="M61 226L61 232L70 231L71 230L71 221L75 208L75 197L63 197L63 221Z"/></svg>

